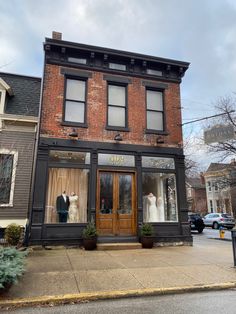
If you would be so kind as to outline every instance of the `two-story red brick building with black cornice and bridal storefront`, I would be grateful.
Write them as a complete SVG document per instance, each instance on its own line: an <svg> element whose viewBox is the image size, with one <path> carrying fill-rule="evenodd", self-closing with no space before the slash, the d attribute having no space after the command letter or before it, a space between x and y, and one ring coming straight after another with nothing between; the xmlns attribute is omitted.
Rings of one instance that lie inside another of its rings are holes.
<svg viewBox="0 0 236 314"><path fill-rule="evenodd" d="M31 243L77 243L91 220L99 241L135 241L151 222L157 242L191 242L180 106L189 64L55 32L44 50Z"/></svg>

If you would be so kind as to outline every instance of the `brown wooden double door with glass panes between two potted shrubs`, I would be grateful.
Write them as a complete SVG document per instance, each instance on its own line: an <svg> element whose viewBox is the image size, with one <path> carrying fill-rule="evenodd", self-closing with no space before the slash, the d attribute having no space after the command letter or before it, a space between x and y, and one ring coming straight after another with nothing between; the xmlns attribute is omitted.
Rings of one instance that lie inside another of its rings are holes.
<svg viewBox="0 0 236 314"><path fill-rule="evenodd" d="M133 172L98 171L96 226L99 235L136 234L136 182Z"/></svg>

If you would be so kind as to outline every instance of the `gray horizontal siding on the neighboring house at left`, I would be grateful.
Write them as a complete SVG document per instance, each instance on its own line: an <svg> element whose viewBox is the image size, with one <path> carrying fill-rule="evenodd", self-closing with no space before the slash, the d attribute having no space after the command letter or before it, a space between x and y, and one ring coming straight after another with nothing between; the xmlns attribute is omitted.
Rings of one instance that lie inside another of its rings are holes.
<svg viewBox="0 0 236 314"><path fill-rule="evenodd" d="M35 133L0 132L0 149L18 152L13 207L0 207L0 221L5 219L27 218Z"/></svg>

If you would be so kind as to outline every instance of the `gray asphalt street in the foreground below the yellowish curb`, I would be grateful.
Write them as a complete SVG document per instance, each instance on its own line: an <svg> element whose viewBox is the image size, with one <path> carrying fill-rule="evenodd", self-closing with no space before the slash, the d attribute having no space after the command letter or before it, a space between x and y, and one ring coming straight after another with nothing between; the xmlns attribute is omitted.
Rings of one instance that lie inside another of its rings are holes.
<svg viewBox="0 0 236 314"><path fill-rule="evenodd" d="M235 290L24 308L2 314L235 314Z"/></svg>

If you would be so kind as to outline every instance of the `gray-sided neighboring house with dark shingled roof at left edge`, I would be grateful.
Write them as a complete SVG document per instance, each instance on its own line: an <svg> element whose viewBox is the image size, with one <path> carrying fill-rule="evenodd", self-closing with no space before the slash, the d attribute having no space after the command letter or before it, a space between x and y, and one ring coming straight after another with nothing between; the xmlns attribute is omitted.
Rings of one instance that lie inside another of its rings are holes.
<svg viewBox="0 0 236 314"><path fill-rule="evenodd" d="M41 79L0 72L0 228L28 216Z"/></svg>

